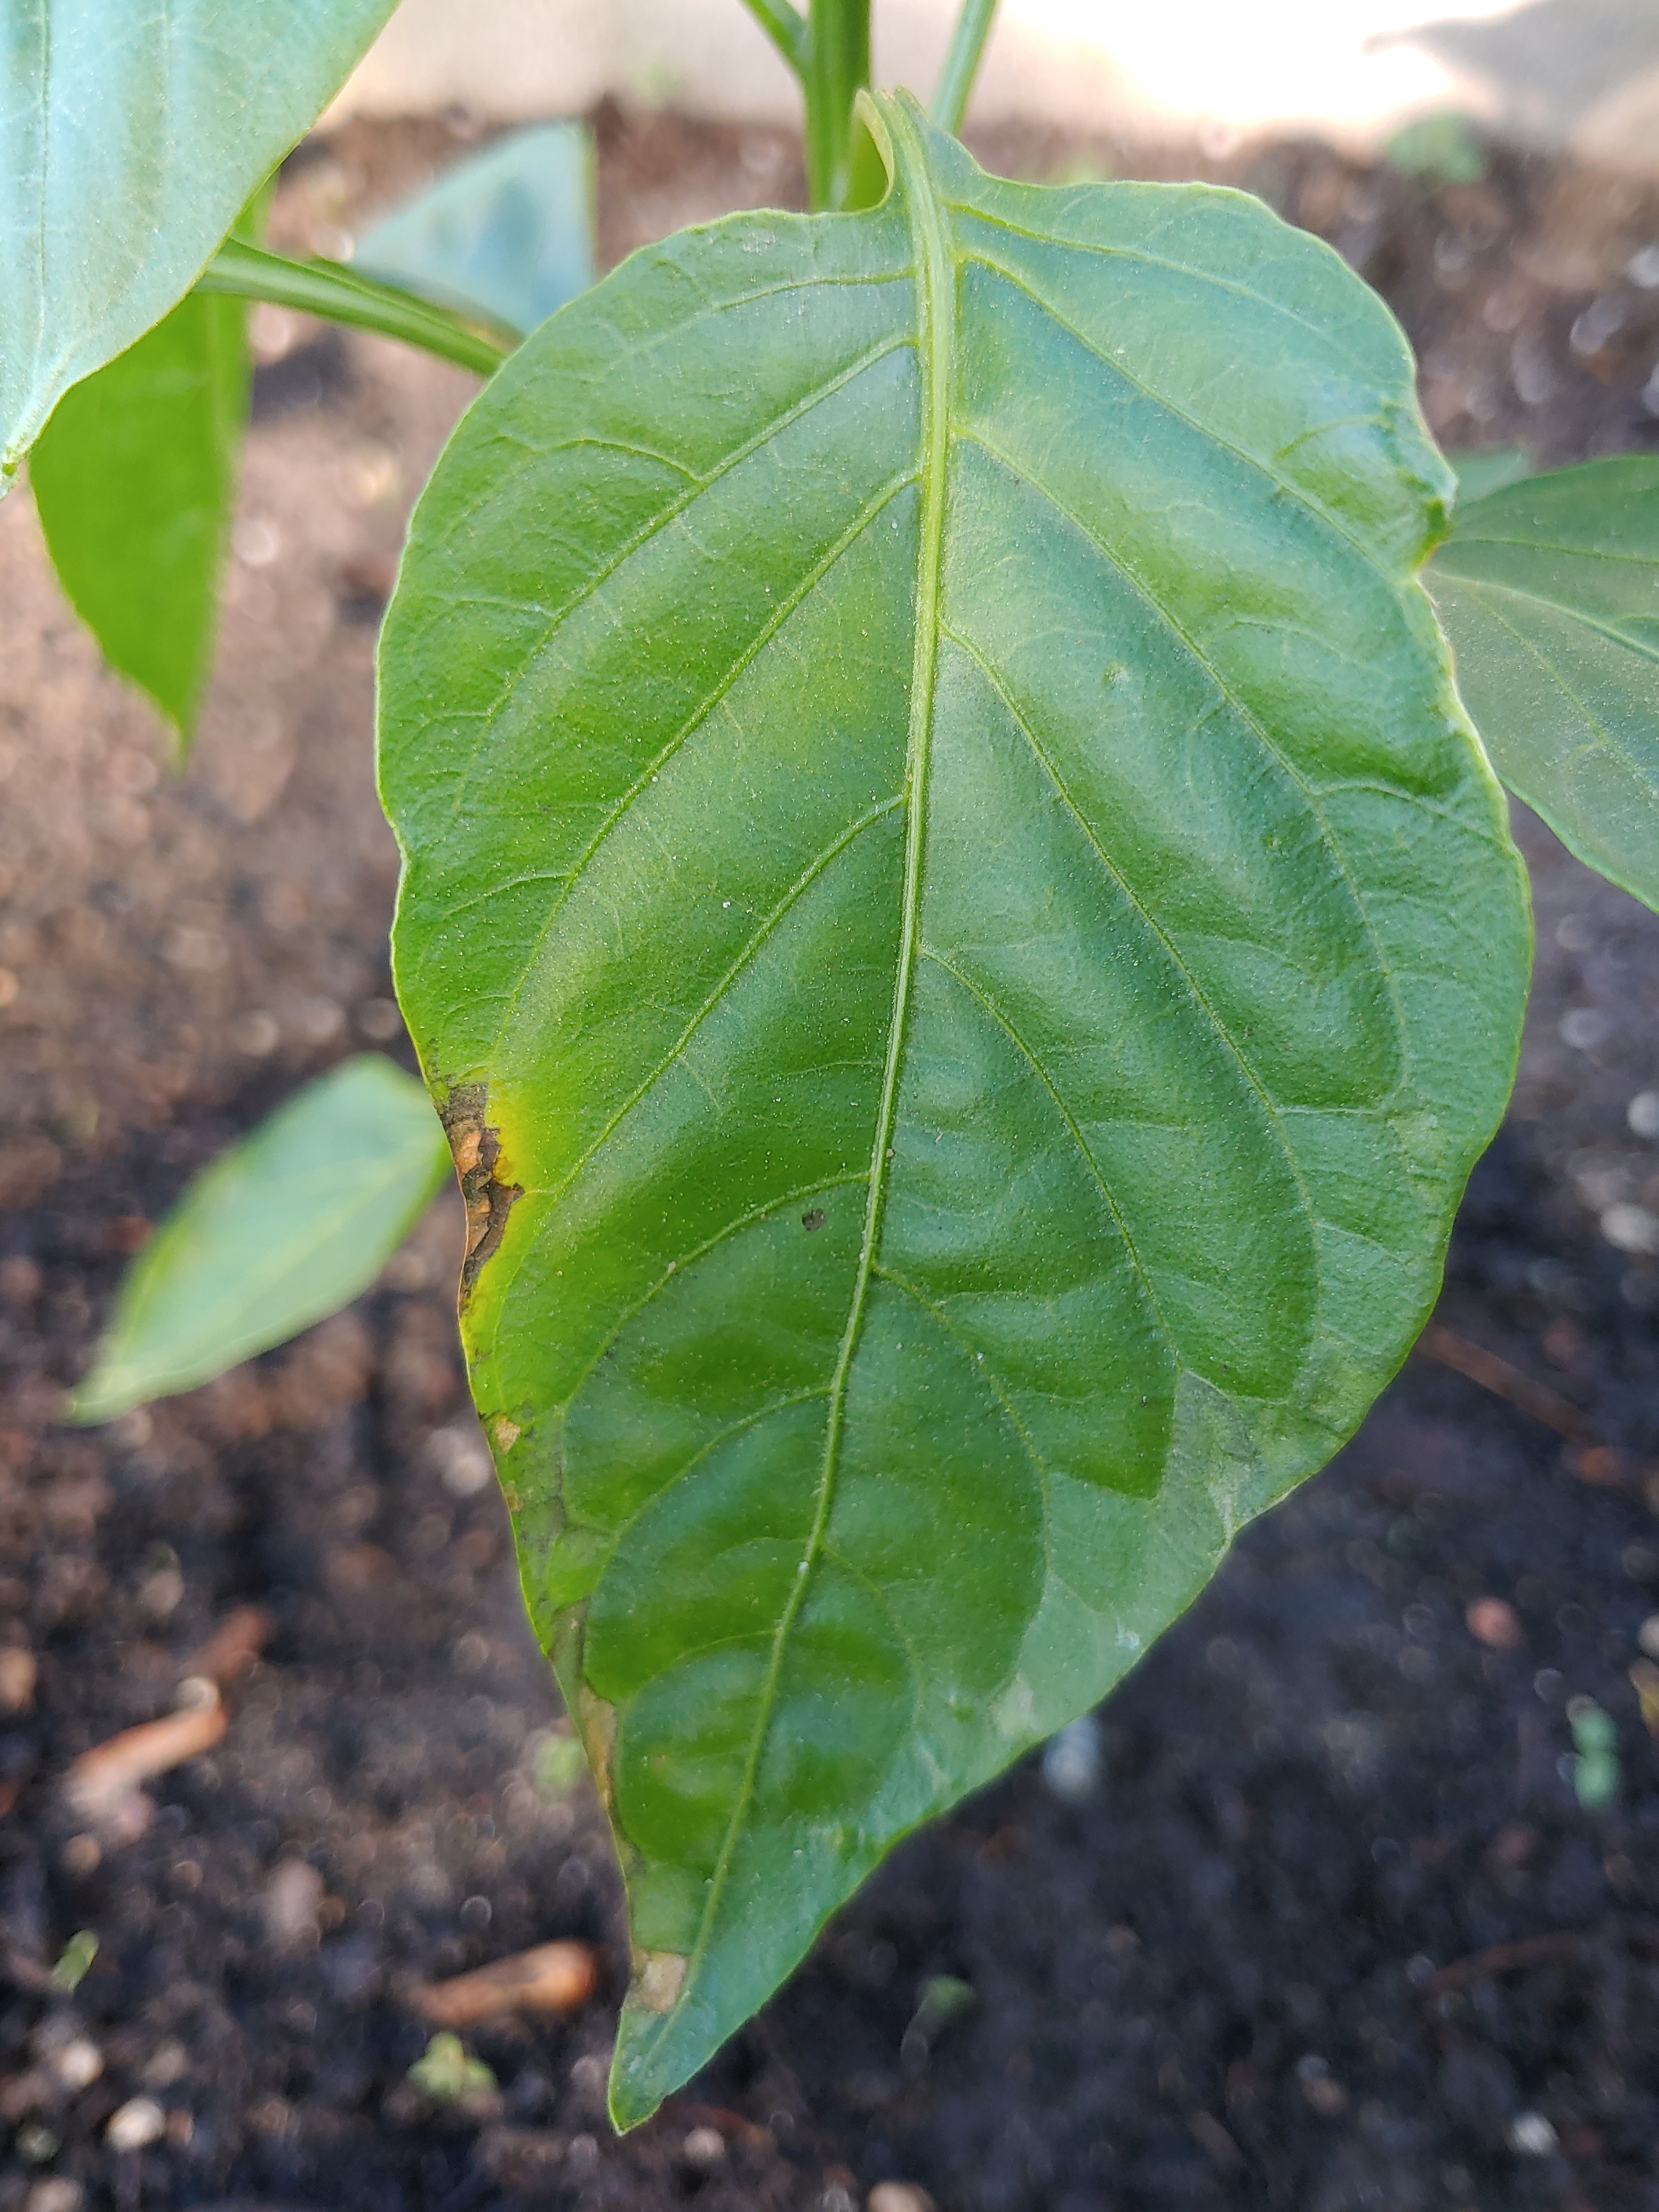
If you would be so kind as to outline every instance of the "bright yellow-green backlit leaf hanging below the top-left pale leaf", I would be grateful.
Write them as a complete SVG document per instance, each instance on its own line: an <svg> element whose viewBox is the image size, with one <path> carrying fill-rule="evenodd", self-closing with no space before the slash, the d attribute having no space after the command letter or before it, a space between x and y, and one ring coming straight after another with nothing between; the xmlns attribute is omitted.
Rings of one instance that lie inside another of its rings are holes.
<svg viewBox="0 0 1659 2212"><path fill-rule="evenodd" d="M58 403L29 482L58 580L188 750L248 414L243 307L186 294Z"/></svg>

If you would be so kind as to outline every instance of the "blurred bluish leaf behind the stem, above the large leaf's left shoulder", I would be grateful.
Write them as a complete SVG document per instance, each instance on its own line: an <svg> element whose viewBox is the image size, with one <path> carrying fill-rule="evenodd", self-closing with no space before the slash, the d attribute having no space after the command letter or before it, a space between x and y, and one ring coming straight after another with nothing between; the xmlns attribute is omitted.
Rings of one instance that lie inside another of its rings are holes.
<svg viewBox="0 0 1659 2212"><path fill-rule="evenodd" d="M535 124L447 170L358 241L354 265L531 332L593 283L593 133Z"/></svg>

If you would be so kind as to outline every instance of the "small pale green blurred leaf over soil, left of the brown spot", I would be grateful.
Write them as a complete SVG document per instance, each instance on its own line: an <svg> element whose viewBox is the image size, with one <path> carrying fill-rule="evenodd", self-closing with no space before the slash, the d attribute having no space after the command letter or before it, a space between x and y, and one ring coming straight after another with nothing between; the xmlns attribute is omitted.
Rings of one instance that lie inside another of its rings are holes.
<svg viewBox="0 0 1659 2212"><path fill-rule="evenodd" d="M133 1261L71 1418L195 1389L347 1305L447 1166L425 1093L378 1053L307 1084L204 1168Z"/></svg>

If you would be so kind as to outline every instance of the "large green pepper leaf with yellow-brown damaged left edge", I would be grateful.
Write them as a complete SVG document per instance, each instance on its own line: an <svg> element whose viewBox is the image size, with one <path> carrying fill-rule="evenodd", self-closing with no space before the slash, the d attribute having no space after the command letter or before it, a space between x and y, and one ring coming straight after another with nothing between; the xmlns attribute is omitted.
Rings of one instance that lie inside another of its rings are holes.
<svg viewBox="0 0 1659 2212"><path fill-rule="evenodd" d="M1356 1427L1528 964L1385 307L1208 188L635 254L383 655L462 1327L628 1876L619 2124Z"/></svg>

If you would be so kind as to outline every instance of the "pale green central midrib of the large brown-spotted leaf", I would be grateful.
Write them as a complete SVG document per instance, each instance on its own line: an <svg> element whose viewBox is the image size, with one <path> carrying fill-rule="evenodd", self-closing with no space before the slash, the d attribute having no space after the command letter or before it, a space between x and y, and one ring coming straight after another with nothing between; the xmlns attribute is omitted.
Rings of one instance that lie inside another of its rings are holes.
<svg viewBox="0 0 1659 2212"><path fill-rule="evenodd" d="M852 1360L863 1334L869 1283L876 1272L876 1245L880 1241L883 1206L887 1199L887 1161L891 1150L894 1115L898 1108L898 1075L905 1051L905 1026L909 1018L911 980L916 973L916 951L920 940L922 907L922 863L927 852L927 768L933 732L933 679L938 668L938 615L940 615L940 571L945 560L945 487L951 442L951 367L956 356L956 265L945 237L942 210L931 188L927 150L911 117L902 108L887 108L894 146L894 184L902 188L916 246L916 358L922 369L922 513L918 526L918 575L916 575L916 659L911 672L909 739L905 759L905 885L898 936L898 962L894 973L894 1009L887 1022L887 1062L883 1068L880 1099L876 1106L876 1139L869 1159L869 1197L865 1201L865 1232L858 1248L847 1323L841 1334L841 1352L830 1383L830 1418L825 1422L823 1469L818 1475L818 1498L801 1555L794 1588L779 1617L772 1637L772 1657L761 1686L759 1712L750 1736L743 1778L732 1803L721 1851L708 1885L708 1902L697 1929L686 1966L686 1980L675 2011L681 2011L697 1984L701 1962L719 1918L721 1898L732 1867L739 1838L748 1823L754 1783L772 1730L772 1714L779 1701L779 1681L790 1648L790 1637L812 1584L812 1571L825 1548L830 1509L834 1504L836 1471L841 1453L841 1427L847 1400Z"/></svg>

